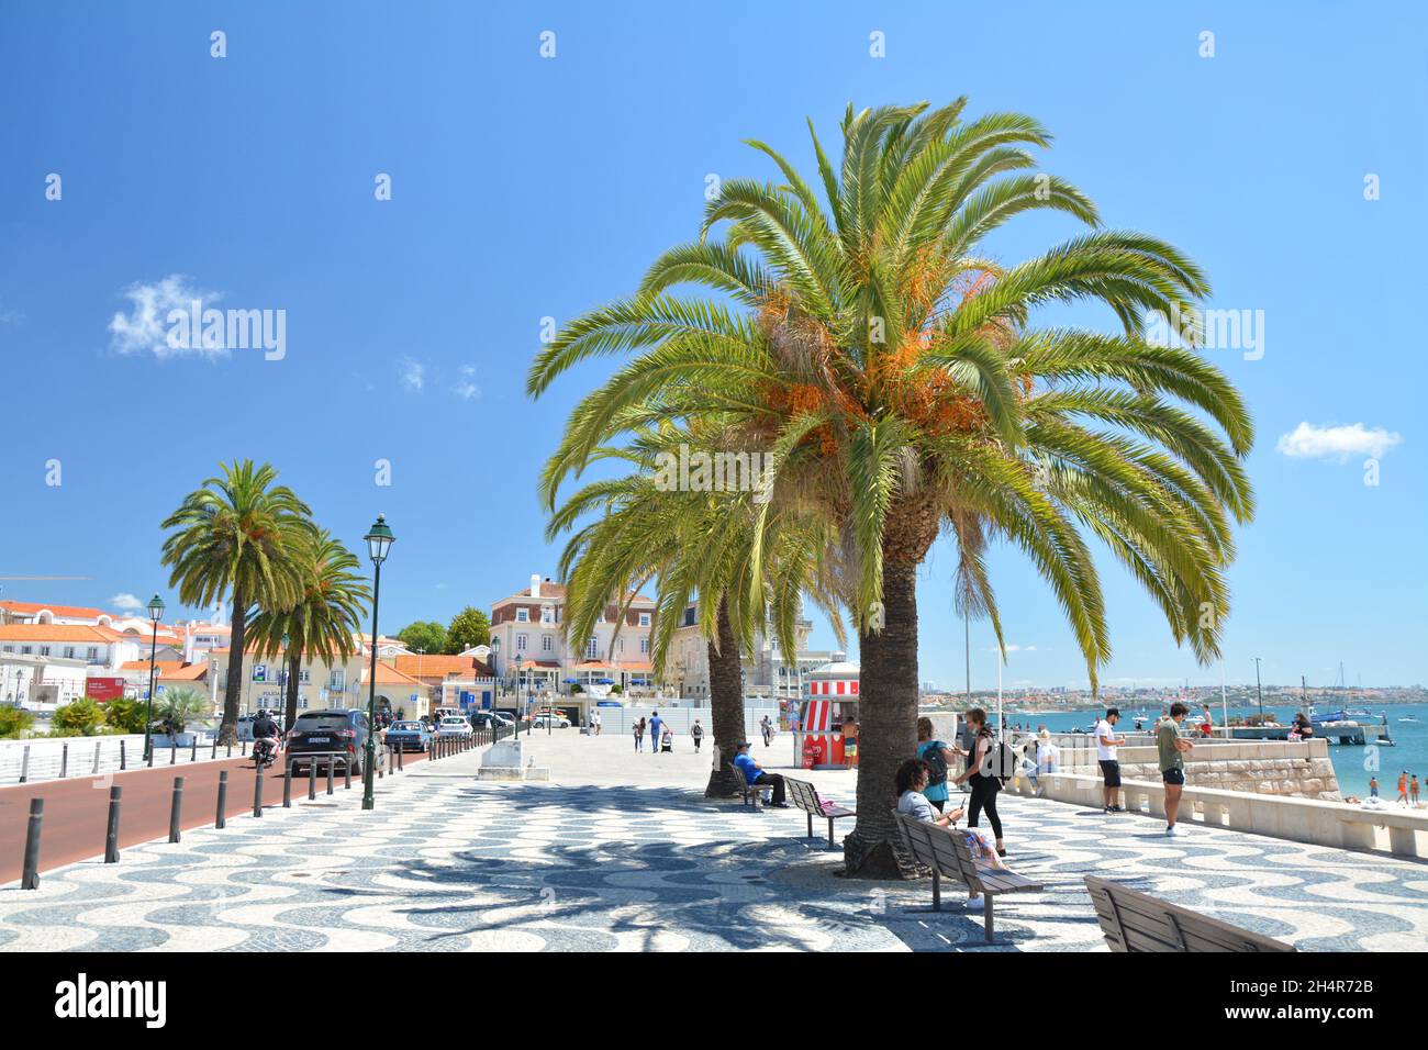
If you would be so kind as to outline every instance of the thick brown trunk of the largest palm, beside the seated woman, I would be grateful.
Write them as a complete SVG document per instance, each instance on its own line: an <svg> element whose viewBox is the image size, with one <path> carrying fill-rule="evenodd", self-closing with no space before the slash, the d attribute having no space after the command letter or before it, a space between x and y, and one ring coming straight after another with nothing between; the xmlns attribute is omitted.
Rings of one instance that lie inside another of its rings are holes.
<svg viewBox="0 0 1428 1050"><path fill-rule="evenodd" d="M891 811L897 767L917 756L917 567L937 521L930 504L895 504L883 536L883 630L858 637L858 816L843 840L848 876L917 874Z"/></svg>

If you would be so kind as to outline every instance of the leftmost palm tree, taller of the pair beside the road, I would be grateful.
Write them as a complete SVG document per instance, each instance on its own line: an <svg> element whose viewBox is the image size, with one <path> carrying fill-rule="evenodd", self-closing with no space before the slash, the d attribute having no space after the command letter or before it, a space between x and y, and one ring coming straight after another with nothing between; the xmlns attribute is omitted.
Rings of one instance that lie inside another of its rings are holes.
<svg viewBox="0 0 1428 1050"><path fill-rule="evenodd" d="M171 566L169 586L178 587L187 606L207 607L233 596L233 634L228 683L223 694L218 741L237 737L238 697L248 613L254 606L280 609L303 593L300 553L310 530L310 510L277 471L253 460L220 464L221 474L188 493L164 519L163 564Z"/></svg>

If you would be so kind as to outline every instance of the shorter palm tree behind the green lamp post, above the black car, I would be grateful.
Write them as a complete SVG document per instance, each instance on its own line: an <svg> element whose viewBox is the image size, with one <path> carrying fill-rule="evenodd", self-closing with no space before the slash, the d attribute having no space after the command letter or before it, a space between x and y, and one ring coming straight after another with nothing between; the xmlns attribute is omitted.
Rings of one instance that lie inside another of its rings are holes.
<svg viewBox="0 0 1428 1050"><path fill-rule="evenodd" d="M327 664L357 651L353 631L361 629L371 589L357 573L361 561L326 529L313 529L297 556L301 594L287 607L261 609L250 627L258 656L287 661L284 726L297 721L298 677L303 660Z"/></svg>

